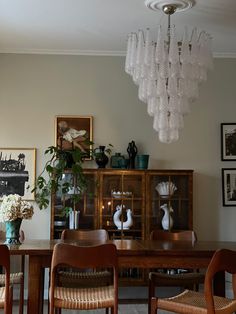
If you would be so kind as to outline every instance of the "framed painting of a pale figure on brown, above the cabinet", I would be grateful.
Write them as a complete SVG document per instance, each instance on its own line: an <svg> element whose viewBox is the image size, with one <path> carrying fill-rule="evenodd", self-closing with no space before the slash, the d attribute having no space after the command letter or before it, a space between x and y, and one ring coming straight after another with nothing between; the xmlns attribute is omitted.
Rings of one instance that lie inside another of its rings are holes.
<svg viewBox="0 0 236 314"><path fill-rule="evenodd" d="M80 148L91 159L93 123L91 116L56 116L55 142L62 150Z"/></svg>

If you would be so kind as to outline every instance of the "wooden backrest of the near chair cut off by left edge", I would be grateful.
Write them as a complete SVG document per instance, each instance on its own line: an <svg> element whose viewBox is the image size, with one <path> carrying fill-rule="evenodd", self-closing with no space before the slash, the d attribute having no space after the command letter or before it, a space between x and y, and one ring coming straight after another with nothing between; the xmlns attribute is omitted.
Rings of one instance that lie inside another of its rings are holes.
<svg viewBox="0 0 236 314"><path fill-rule="evenodd" d="M10 253L6 245L0 245L0 265L5 270L5 310L4 313L10 313Z"/></svg>

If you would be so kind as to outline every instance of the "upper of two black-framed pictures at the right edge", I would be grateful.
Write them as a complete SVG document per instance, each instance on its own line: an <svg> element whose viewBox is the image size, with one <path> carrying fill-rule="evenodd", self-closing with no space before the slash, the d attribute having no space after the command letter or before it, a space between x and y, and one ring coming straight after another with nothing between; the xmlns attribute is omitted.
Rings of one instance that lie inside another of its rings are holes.
<svg viewBox="0 0 236 314"><path fill-rule="evenodd" d="M221 160L236 160L236 123L221 123Z"/></svg>

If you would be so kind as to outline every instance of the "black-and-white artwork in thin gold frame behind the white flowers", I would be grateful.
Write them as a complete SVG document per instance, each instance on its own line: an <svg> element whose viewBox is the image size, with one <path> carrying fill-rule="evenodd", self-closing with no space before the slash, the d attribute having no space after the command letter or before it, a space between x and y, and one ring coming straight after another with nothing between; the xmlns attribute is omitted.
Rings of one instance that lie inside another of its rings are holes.
<svg viewBox="0 0 236 314"><path fill-rule="evenodd" d="M0 148L0 198L19 194L34 200L36 148Z"/></svg>

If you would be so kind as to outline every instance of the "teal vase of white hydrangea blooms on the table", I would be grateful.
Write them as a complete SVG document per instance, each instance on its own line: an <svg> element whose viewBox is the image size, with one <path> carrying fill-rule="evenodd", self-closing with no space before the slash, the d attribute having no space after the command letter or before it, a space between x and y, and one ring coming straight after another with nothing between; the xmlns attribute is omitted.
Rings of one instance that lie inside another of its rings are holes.
<svg viewBox="0 0 236 314"><path fill-rule="evenodd" d="M33 206L18 194L5 195L0 208L0 222L6 224L6 244L20 244L20 226L22 219L33 216Z"/></svg>

